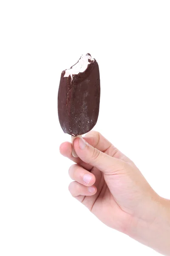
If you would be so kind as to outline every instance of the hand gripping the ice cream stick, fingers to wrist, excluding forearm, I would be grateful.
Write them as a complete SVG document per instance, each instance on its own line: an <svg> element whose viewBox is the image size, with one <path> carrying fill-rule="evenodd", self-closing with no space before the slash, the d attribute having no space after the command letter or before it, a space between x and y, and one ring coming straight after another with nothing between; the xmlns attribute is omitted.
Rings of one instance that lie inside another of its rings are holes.
<svg viewBox="0 0 170 256"><path fill-rule="evenodd" d="M133 215L147 218L145 209L153 209L158 195L135 164L101 134L91 131L84 139L74 142L79 158L72 157L71 143L60 146L61 154L77 163L69 169L76 180L69 190L106 225L126 232Z"/></svg>

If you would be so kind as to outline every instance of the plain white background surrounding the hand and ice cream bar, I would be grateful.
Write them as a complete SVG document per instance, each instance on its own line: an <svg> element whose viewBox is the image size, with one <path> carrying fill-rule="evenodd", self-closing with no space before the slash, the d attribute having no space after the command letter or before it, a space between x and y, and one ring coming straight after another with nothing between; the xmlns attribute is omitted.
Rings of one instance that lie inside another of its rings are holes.
<svg viewBox="0 0 170 256"><path fill-rule="evenodd" d="M58 85L87 52L101 76L95 130L170 198L169 0L1 0L1 256L158 255L68 192Z"/></svg>

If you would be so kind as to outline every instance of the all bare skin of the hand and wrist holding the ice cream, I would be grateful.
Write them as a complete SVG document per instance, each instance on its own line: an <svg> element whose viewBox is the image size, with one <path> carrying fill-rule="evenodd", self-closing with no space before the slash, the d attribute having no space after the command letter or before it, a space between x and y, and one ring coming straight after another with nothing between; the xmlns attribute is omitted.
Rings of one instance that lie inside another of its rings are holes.
<svg viewBox="0 0 170 256"><path fill-rule="evenodd" d="M60 153L76 164L69 191L107 226L170 255L170 201L161 198L135 164L100 133L91 131ZM160 236L161 234L161 236Z"/></svg>

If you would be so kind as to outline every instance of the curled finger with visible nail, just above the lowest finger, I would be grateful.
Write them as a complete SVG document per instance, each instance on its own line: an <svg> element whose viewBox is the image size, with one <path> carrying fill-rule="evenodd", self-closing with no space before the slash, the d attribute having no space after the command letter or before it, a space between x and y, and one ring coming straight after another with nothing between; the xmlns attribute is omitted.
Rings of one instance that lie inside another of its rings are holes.
<svg viewBox="0 0 170 256"><path fill-rule="evenodd" d="M68 172L72 180L76 180L78 183L85 186L92 186L96 181L94 174L88 172L77 164L72 165Z"/></svg>

